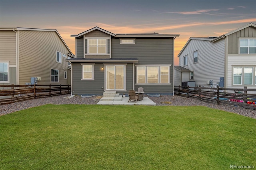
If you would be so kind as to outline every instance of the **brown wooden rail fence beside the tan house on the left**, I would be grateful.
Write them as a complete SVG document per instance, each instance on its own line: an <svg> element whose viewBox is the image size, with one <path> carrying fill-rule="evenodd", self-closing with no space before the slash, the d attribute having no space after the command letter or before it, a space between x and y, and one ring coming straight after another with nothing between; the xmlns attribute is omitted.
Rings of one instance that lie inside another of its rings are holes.
<svg viewBox="0 0 256 170"><path fill-rule="evenodd" d="M70 85L0 85L0 105L70 92Z"/></svg>

